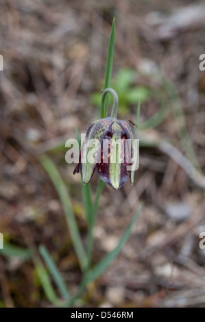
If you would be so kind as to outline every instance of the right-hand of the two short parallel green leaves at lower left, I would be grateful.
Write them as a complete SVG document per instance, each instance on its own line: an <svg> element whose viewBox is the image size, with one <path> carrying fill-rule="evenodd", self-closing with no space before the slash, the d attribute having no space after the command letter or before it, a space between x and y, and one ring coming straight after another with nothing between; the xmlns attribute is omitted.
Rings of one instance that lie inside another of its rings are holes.
<svg viewBox="0 0 205 322"><path fill-rule="evenodd" d="M67 289L67 285L64 283L62 275L60 274L58 267L56 267L53 258L51 258L49 251L47 251L44 245L40 245L39 251L41 256L43 257L43 260L47 264L47 268L49 269L49 272L51 273L53 280L56 282L56 285L58 286L60 294L64 299L71 299L71 296L69 295L69 291Z"/></svg>

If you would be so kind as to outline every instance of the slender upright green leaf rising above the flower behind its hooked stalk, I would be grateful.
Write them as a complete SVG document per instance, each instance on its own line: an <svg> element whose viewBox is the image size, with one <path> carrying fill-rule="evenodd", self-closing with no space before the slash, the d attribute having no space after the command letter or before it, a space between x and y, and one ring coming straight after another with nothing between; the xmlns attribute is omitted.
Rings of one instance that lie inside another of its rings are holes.
<svg viewBox="0 0 205 322"><path fill-rule="evenodd" d="M108 48L108 57L106 63L106 76L104 89L110 87L110 79L112 76L112 63L113 63L113 55L114 55L114 30L115 30L115 18L112 21L112 30L110 34L110 43ZM106 99L104 104L101 103L101 119L107 116L108 113L108 95L106 95Z"/></svg>

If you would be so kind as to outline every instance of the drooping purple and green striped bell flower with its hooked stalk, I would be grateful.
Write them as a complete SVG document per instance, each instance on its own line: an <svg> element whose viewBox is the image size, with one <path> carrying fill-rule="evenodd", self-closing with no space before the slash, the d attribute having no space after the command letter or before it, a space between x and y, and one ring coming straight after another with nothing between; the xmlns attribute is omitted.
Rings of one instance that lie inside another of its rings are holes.
<svg viewBox="0 0 205 322"><path fill-rule="evenodd" d="M118 97L112 88L114 103L111 116L91 123L82 144L80 162L74 174L81 172L82 181L88 184L97 168L101 180L118 189L128 180L134 183L134 171L138 168L138 140L132 121L117 120ZM94 147L93 147L94 145Z"/></svg>

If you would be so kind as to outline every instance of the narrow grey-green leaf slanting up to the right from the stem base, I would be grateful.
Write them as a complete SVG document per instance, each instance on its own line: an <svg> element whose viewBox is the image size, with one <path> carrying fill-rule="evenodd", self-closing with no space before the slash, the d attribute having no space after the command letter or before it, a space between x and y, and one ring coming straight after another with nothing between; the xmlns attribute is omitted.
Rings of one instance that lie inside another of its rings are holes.
<svg viewBox="0 0 205 322"><path fill-rule="evenodd" d="M119 244L117 247L115 247L110 253L108 253L99 263L95 265L91 273L88 275L87 282L92 282L99 277L104 271L106 271L106 268L111 264L111 262L116 258L121 251L123 245L125 245L126 241L128 240L132 227L134 226L134 223L136 222L136 219L138 219L139 214L141 213L141 210L143 208L143 204L138 208L136 214L134 215L134 218L132 219L132 222L128 226L127 230L119 240Z"/></svg>

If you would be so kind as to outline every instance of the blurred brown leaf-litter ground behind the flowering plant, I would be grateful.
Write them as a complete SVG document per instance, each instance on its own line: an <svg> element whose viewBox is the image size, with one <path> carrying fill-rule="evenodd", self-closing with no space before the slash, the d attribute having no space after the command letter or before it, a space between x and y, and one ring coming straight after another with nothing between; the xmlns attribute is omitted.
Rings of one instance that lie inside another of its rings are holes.
<svg viewBox="0 0 205 322"><path fill-rule="evenodd" d="M119 119L135 120L141 99L140 166L134 186L104 188L94 262L117 245L139 201L145 206L82 306L203 307L203 1L1 0L0 232L16 247L45 244L75 292L80 269L39 156L47 153L58 166L86 240L80 175L64 160L64 142L98 117L114 16L111 87L119 94ZM95 174L93 193L96 182ZM1 254L0 306L50 306L31 259Z"/></svg>

